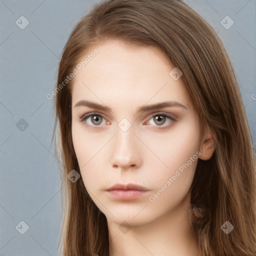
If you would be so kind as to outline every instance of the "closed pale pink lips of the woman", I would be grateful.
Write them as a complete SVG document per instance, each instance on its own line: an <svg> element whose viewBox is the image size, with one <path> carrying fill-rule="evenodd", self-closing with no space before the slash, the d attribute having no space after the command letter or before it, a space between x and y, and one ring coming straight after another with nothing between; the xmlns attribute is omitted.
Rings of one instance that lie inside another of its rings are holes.
<svg viewBox="0 0 256 256"><path fill-rule="evenodd" d="M134 183L117 183L107 188L106 191L108 191L116 199L129 200L142 196L148 191L148 189Z"/></svg>

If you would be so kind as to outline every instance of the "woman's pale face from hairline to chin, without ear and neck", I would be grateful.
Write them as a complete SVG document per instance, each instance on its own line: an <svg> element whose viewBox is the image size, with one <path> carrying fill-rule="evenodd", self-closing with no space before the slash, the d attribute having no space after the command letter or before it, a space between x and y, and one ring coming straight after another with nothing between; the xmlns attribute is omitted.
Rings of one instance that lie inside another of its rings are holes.
<svg viewBox="0 0 256 256"><path fill-rule="evenodd" d="M130 225L188 207L202 136L182 75L156 47L108 40L95 48L76 66L71 105L89 195L108 221ZM168 104L153 107L160 102ZM116 183L146 191L107 191Z"/></svg>

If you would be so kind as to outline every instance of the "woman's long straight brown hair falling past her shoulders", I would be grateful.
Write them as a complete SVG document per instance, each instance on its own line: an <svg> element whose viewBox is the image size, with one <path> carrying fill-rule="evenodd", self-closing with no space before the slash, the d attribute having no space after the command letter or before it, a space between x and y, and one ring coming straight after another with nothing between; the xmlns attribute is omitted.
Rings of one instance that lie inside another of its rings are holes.
<svg viewBox="0 0 256 256"><path fill-rule="evenodd" d="M215 151L209 160L198 159L190 187L191 205L205 213L191 215L200 255L255 256L255 158L236 78L212 27L179 0L102 1L79 20L64 47L54 96L56 153L63 164L61 255L109 255L105 215L82 179L73 183L66 176L80 171L71 136L72 79L63 85L88 49L108 38L159 47L182 71L202 131L208 128L214 138ZM221 229L226 221L234 227L228 234Z"/></svg>

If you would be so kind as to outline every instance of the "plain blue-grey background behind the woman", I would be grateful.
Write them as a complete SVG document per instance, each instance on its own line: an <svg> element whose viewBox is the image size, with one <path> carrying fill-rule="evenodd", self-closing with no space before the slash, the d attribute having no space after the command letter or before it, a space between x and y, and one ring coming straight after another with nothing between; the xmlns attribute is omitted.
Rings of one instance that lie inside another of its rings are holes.
<svg viewBox="0 0 256 256"><path fill-rule="evenodd" d="M72 28L96 2L0 0L0 255L57 255L60 182L51 145L53 100L46 94L54 89ZM209 22L227 49L255 145L256 2L185 2ZM15 23L22 15L29 21L24 29ZM226 15L234 21L229 29L220 23ZM29 226L24 234L17 231L25 230L21 220Z"/></svg>

